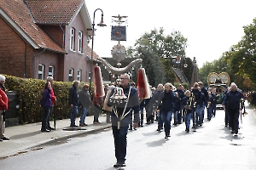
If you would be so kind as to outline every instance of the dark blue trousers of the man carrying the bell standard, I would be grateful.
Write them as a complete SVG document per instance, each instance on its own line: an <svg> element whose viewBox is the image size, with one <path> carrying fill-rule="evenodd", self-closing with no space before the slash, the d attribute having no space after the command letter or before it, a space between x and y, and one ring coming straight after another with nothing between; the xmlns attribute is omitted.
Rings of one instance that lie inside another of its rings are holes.
<svg viewBox="0 0 256 170"><path fill-rule="evenodd" d="M120 126L120 129L116 126L112 126L112 131L116 160L125 162L128 126Z"/></svg>

